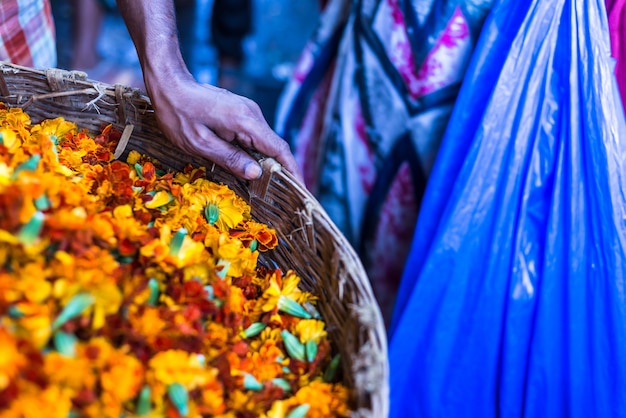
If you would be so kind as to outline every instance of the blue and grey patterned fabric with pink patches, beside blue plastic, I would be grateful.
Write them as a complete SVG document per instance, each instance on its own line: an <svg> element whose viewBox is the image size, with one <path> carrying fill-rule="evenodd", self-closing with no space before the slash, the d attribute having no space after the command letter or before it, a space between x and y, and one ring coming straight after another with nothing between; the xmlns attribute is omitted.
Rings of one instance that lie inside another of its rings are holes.
<svg viewBox="0 0 626 418"><path fill-rule="evenodd" d="M491 0L332 0L279 105L307 187L389 320L420 200Z"/></svg>

